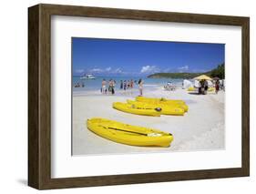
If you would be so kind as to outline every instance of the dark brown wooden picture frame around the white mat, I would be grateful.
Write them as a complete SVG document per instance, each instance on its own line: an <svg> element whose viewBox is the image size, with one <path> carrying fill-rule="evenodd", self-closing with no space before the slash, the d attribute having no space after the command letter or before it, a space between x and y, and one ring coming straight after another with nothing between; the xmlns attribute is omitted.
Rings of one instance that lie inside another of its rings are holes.
<svg viewBox="0 0 256 194"><path fill-rule="evenodd" d="M51 16L87 16L144 21L241 26L241 168L201 169L111 176L51 178ZM243 177L250 174L250 18L99 8L35 5L28 8L28 185L60 189L189 179Z"/></svg>

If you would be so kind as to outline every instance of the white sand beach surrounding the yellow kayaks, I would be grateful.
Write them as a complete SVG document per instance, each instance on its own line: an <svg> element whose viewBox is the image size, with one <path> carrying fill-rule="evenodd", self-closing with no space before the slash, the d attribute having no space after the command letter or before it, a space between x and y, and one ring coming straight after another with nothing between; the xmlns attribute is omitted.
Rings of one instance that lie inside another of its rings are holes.
<svg viewBox="0 0 256 194"><path fill-rule="evenodd" d="M149 87L148 87L149 88ZM166 91L154 87L145 89L145 97L167 97L182 99L189 111L182 116L147 117L128 114L112 108L113 102L125 102L138 96L133 93L116 96L101 95L91 91L89 95L73 95L73 155L128 154L165 151L199 151L225 148L225 93L220 91L208 95L189 94L185 89ZM157 128L173 134L174 140L169 148L145 148L119 144L101 138L87 129L87 118L104 117L130 125Z"/></svg>

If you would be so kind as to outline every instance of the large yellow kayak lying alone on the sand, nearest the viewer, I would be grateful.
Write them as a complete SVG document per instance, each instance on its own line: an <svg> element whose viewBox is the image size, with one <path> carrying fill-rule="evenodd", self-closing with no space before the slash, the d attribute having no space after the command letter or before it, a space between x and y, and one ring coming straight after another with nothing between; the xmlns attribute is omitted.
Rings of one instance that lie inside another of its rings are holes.
<svg viewBox="0 0 256 194"><path fill-rule="evenodd" d="M100 117L87 119L87 128L102 138L141 147L169 147L173 136L153 129L131 126L114 120Z"/></svg>

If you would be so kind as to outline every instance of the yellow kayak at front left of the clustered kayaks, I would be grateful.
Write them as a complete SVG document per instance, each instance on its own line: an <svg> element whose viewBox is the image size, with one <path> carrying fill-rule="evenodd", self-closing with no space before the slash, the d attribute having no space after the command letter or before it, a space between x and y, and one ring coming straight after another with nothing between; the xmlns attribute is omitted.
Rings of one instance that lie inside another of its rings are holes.
<svg viewBox="0 0 256 194"><path fill-rule="evenodd" d="M136 115L155 116L155 117L159 117L161 115L161 113L153 107L137 107L132 104L122 103L122 102L114 102L113 107L120 111L136 114Z"/></svg>

